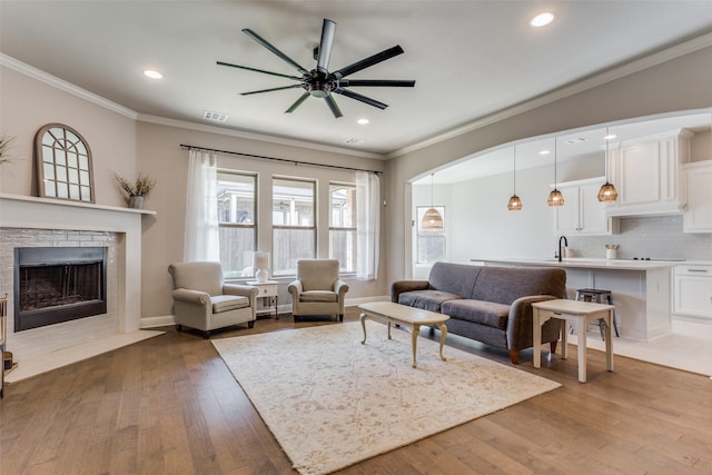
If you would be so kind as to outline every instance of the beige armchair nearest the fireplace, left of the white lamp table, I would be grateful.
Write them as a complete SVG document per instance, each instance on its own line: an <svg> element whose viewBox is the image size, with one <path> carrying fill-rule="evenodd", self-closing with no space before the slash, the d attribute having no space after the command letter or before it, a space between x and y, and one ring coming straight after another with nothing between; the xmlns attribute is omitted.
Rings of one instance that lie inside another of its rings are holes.
<svg viewBox="0 0 712 475"><path fill-rule="evenodd" d="M247 323L255 326L257 288L225 284L220 263L179 263L168 266L174 280L174 315L182 326L202 330Z"/></svg>

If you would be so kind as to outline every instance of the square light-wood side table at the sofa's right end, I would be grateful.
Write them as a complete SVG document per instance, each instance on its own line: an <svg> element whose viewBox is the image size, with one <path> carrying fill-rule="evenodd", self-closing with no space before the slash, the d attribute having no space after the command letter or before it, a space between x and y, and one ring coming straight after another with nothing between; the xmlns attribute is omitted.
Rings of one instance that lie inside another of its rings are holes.
<svg viewBox="0 0 712 475"><path fill-rule="evenodd" d="M572 323L578 337L578 382L586 382L586 328L589 323L603 318L605 326L605 367L613 370L613 307L612 305L594 304L577 300L546 300L532 304L534 315L534 367L542 366L542 325L550 318L562 320L561 325L561 356L566 358L566 325Z"/></svg>

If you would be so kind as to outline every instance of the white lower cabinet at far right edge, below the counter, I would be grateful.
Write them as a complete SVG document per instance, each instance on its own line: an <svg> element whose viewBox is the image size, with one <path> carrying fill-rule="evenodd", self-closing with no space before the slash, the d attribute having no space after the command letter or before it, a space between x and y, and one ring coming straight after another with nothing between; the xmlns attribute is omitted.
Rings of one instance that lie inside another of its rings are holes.
<svg viewBox="0 0 712 475"><path fill-rule="evenodd" d="M712 318L712 266L676 266L674 287L674 314Z"/></svg>

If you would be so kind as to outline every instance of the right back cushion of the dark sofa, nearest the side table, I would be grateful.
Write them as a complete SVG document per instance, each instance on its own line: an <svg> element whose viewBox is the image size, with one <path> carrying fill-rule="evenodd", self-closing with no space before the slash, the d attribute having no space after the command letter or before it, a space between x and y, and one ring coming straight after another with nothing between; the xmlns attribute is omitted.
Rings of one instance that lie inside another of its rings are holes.
<svg viewBox="0 0 712 475"><path fill-rule="evenodd" d="M552 267L483 267L471 298L512 305L520 297L566 298L566 271Z"/></svg>

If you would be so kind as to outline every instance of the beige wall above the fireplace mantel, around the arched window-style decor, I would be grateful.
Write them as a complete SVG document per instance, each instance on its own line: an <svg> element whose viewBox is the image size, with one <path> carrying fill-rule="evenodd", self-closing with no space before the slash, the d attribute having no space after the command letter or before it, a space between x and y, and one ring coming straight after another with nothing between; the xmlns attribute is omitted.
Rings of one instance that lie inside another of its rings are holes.
<svg viewBox="0 0 712 475"><path fill-rule="evenodd" d="M126 206L111 171L127 177L136 172L135 119L4 66L0 75L0 132L14 137L12 161L0 168L0 192L37 196L34 133L47 123L59 122L79 131L89 144L96 202Z"/></svg>

